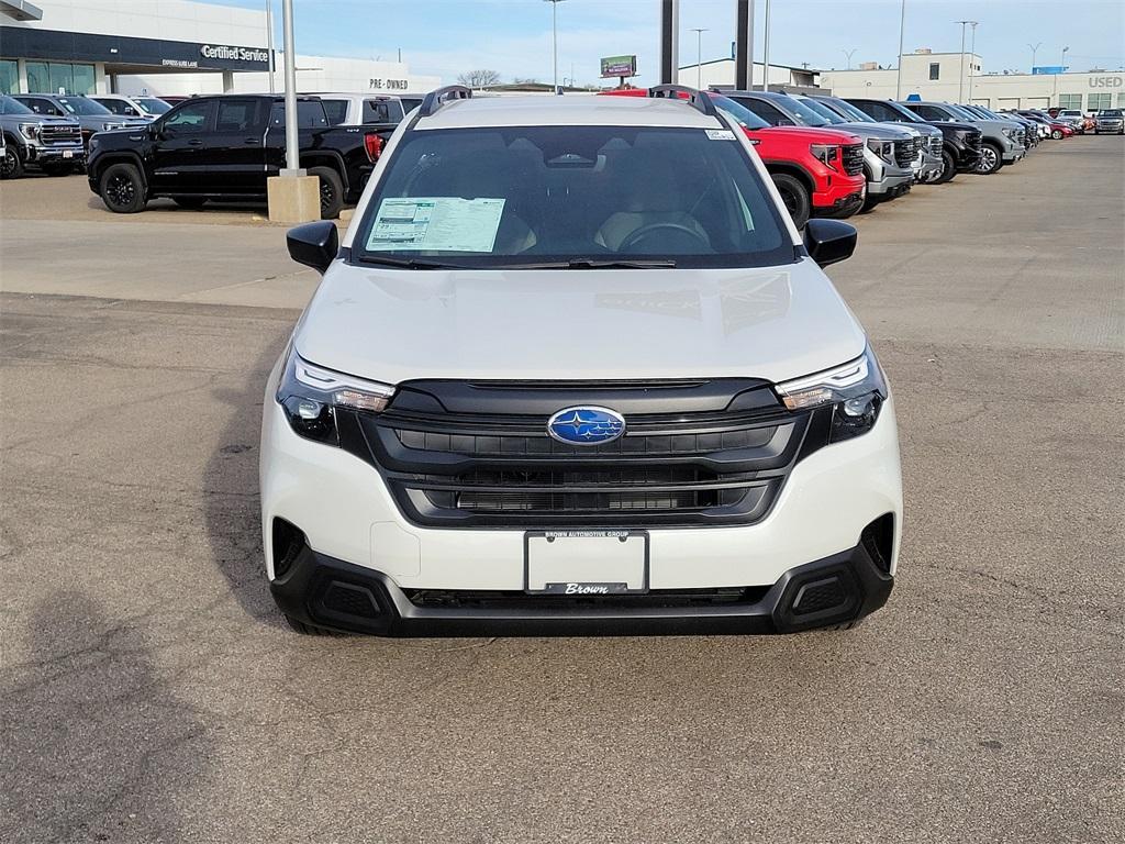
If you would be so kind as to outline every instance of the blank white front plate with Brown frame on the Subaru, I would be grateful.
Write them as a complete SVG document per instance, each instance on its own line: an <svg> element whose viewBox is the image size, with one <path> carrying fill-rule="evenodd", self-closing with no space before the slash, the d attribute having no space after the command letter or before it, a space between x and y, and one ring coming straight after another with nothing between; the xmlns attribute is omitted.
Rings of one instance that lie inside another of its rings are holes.
<svg viewBox="0 0 1125 844"><path fill-rule="evenodd" d="M642 530L529 532L523 549L523 584L529 593L612 595L648 591L648 533Z"/></svg>

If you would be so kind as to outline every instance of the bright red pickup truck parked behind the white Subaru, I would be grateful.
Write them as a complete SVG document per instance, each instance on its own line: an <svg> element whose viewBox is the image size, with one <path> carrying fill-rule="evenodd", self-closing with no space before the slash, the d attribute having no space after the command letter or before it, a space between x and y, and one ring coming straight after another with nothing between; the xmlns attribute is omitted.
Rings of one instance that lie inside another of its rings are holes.
<svg viewBox="0 0 1125 844"><path fill-rule="evenodd" d="M647 97L646 88L602 91ZM686 95L682 95L686 97ZM863 207L863 142L849 132L804 126L771 126L745 106L708 92L717 108L736 120L755 144L798 228L809 217L850 217Z"/></svg>

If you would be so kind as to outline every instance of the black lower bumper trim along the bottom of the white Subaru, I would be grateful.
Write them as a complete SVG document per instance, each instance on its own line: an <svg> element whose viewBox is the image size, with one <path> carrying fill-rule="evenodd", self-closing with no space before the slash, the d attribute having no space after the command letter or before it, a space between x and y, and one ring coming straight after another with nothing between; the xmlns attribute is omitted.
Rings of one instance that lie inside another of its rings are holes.
<svg viewBox="0 0 1125 844"><path fill-rule="evenodd" d="M270 591L306 625L376 636L785 634L849 625L880 609L894 583L884 565L861 544L786 571L764 594L746 590L722 602L698 593L556 600L518 592L439 593L428 602L380 572L306 546Z"/></svg>

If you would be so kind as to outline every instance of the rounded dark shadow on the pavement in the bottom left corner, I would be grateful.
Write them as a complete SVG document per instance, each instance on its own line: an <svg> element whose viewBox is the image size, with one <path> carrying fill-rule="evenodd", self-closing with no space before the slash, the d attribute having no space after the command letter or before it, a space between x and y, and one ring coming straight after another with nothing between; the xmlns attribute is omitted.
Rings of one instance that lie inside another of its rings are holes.
<svg viewBox="0 0 1125 844"><path fill-rule="evenodd" d="M181 839L214 748L144 636L114 623L55 592L30 617L28 656L0 666L0 841Z"/></svg>

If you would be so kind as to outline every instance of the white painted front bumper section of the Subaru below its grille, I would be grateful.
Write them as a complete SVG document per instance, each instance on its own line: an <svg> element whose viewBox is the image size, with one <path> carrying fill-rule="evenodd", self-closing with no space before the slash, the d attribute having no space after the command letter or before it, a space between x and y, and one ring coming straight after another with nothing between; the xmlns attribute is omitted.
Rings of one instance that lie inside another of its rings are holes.
<svg viewBox="0 0 1125 844"><path fill-rule="evenodd" d="M294 433L273 401L276 377L264 397L260 467L263 546L271 581L276 580L272 526L274 519L282 519L304 533L309 553L320 560L316 565L335 560L353 574L358 569L392 598L392 586L522 592L523 529L423 528L407 521L376 468L343 449ZM649 530L648 586L654 591L773 589L786 573L810 560L821 563L840 554L850 558L864 529L886 514L893 517L894 526L885 566L890 576L896 571L902 515L893 397L884 403L870 432L825 446L798 461L772 510L759 521ZM286 581L294 576L289 571L284 574ZM284 587L280 600L289 600L285 593L294 589ZM399 608L394 600L390 605ZM771 612L775 605L770 604ZM399 609L396 612L403 616ZM403 617L408 620L412 612ZM741 608L736 614L760 617L764 612L764 607ZM396 629L416 629L403 623L406 627Z"/></svg>

